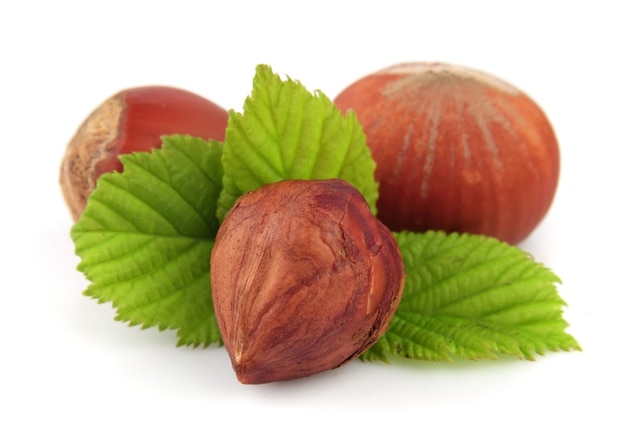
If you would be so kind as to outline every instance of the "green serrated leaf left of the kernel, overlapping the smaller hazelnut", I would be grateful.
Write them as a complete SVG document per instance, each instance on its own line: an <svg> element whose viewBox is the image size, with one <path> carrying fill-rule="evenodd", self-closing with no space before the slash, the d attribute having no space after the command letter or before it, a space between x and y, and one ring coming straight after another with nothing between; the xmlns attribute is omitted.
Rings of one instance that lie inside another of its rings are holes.
<svg viewBox="0 0 626 426"><path fill-rule="evenodd" d="M209 259L219 223L222 144L163 138L162 149L121 157L71 231L85 294L112 302L117 320L177 329L179 345L221 343Z"/></svg>

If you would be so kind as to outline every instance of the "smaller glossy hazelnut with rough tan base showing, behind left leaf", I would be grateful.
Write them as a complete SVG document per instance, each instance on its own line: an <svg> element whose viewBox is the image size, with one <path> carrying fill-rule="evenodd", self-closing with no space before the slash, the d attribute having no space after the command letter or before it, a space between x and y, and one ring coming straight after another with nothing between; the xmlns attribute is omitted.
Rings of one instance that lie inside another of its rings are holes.
<svg viewBox="0 0 626 426"><path fill-rule="evenodd" d="M61 164L61 189L74 220L103 173L122 171L118 156L161 146L161 136L224 140L228 113L194 93L166 86L123 90L82 123Z"/></svg>

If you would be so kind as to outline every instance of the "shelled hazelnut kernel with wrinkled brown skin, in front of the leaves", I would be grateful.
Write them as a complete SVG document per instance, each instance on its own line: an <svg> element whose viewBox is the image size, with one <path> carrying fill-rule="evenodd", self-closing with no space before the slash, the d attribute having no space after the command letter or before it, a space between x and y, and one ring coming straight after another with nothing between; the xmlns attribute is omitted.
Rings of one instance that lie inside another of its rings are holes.
<svg viewBox="0 0 626 426"><path fill-rule="evenodd" d="M386 331L404 280L393 235L338 179L283 181L242 196L211 255L217 322L247 384L358 357Z"/></svg>

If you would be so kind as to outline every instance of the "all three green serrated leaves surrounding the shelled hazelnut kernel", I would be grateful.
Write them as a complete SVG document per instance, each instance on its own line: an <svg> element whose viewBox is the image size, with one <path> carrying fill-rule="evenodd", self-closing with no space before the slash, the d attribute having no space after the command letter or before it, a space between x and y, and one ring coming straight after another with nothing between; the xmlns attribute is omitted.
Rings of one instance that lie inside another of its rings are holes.
<svg viewBox="0 0 626 426"><path fill-rule="evenodd" d="M85 294L117 320L175 329L179 345L222 344L209 260L221 220L243 194L287 179L340 178L374 209L375 164L359 123L259 66L225 141L164 137L103 175L71 231ZM559 278L521 250L472 235L394 234L406 287L387 333L361 358L532 359L580 349L565 332Z"/></svg>

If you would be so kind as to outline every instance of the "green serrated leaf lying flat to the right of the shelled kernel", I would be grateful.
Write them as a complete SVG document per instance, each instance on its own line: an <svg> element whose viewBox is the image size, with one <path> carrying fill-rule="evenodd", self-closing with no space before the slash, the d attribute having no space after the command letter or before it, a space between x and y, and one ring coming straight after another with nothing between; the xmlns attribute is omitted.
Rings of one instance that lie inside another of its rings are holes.
<svg viewBox="0 0 626 426"><path fill-rule="evenodd" d="M565 332L560 279L527 253L467 234L395 236L406 287L389 329L363 359L533 360L549 350L580 350Z"/></svg>

